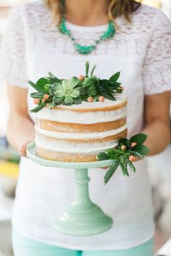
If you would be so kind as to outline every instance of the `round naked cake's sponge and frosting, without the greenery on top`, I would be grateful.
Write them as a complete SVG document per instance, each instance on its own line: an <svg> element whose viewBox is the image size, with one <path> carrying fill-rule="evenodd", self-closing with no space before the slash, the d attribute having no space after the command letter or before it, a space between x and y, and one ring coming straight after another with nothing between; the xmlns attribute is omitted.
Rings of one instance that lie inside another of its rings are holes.
<svg viewBox="0 0 171 256"><path fill-rule="evenodd" d="M124 96L115 102L45 107L36 118L38 156L62 162L92 162L96 154L127 136Z"/></svg>

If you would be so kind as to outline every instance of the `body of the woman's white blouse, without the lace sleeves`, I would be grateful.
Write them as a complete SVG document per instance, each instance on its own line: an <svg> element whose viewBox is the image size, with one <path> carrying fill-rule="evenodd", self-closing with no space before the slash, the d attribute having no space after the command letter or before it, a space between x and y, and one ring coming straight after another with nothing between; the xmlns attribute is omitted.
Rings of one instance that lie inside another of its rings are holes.
<svg viewBox="0 0 171 256"><path fill-rule="evenodd" d="M109 78L121 71L120 81L128 95L128 136L143 128L143 61L149 43L150 15L155 12L141 7L133 14L132 24L123 17L117 19L116 35L104 41L92 54L83 56L75 52L70 38L63 36L52 23L51 13L42 2L22 7L25 29L25 56L28 79L54 73L59 78L84 75L85 63L97 65L95 75ZM143 27L142 27L143 21ZM90 45L107 30L107 25L80 27L67 22L67 28L80 44ZM33 107L28 90L28 109ZM34 115L31 115L34 119ZM73 249L123 249L148 240L154 233L151 191L147 163L135 163L137 172L130 178L120 170L104 186L106 170L92 169L90 194L93 202L114 218L110 231L98 236L84 237L59 234L51 222L62 214L73 199L73 170L45 168L22 159L20 177L13 209L12 223L33 239Z"/></svg>

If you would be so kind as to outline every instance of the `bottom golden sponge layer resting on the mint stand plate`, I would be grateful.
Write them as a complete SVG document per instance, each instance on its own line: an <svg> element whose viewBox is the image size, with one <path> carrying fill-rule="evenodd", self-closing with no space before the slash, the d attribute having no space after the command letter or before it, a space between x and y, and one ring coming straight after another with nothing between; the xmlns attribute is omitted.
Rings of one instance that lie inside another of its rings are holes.
<svg viewBox="0 0 171 256"><path fill-rule="evenodd" d="M36 146L36 154L46 160L54 160L58 162L95 162L96 154L77 154L77 153L66 153L57 152L53 150L41 149Z"/></svg>

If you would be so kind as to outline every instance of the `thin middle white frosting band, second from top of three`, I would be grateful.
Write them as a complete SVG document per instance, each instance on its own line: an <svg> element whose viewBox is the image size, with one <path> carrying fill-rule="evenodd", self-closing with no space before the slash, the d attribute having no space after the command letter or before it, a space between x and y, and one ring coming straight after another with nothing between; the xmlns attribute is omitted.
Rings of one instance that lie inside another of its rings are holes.
<svg viewBox="0 0 171 256"><path fill-rule="evenodd" d="M101 139L108 136L116 135L117 133L121 133L127 128L127 125L123 125L120 128L110 130L110 131L103 131L103 132L95 132L95 133L62 133L56 131L48 131L41 128L38 128L35 125L35 129L38 133L41 133L44 136L48 136L51 138L56 139Z"/></svg>

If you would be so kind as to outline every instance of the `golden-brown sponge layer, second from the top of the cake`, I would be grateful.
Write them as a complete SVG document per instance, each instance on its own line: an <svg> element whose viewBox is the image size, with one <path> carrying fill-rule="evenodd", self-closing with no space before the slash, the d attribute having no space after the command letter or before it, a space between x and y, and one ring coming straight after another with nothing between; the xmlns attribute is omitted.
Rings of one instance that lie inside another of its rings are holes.
<svg viewBox="0 0 171 256"><path fill-rule="evenodd" d="M90 133L90 132L103 132L114 130L126 124L126 118L106 123L60 123L51 120L40 119L36 120L36 126L43 130L67 132L67 133Z"/></svg>

